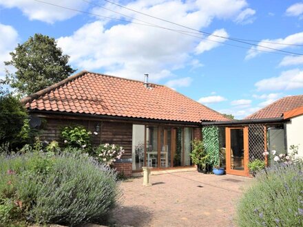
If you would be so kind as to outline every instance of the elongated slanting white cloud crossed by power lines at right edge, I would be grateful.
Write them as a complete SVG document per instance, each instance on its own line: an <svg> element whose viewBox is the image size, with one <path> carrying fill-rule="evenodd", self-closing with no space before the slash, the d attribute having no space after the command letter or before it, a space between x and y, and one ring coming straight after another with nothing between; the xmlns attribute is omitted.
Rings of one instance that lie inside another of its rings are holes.
<svg viewBox="0 0 303 227"><path fill-rule="evenodd" d="M266 42L270 42L270 43L266 43ZM281 43L281 44L278 44L278 43ZM275 51L275 50L271 50L271 49L268 49L265 47L269 47L269 48L273 48L273 49L277 49L277 50L283 50L283 49L289 47L289 45L286 45L286 44L302 45L303 44L303 32L291 34L284 39L264 39L260 43L258 43L258 45L259 45L258 47L257 46L251 47L251 49L247 52L247 56L245 56L245 59L254 58L258 54L260 54L262 51L267 51L267 52ZM260 47L260 46L263 46L263 47Z"/></svg>

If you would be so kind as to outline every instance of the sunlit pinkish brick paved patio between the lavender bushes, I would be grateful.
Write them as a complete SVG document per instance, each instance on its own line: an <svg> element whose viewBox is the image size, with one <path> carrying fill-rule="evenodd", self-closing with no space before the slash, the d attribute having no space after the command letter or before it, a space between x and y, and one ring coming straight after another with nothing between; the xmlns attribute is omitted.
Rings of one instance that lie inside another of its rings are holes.
<svg viewBox="0 0 303 227"><path fill-rule="evenodd" d="M242 188L251 178L204 175L196 171L152 175L121 184L123 205L114 212L117 226L233 226Z"/></svg>

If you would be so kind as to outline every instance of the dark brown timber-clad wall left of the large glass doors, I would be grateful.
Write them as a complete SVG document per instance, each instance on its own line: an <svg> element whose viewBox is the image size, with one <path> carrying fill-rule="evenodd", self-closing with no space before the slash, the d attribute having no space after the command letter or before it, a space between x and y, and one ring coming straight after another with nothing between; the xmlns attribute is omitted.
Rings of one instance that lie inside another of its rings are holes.
<svg viewBox="0 0 303 227"><path fill-rule="evenodd" d="M41 133L41 140L56 140L63 144L61 129L65 126L82 125L92 132L92 144L117 144L125 149L123 159L132 158L132 123L104 122L96 120L74 120L65 118L45 118L45 129ZM94 135L96 125L100 125L98 135Z"/></svg>

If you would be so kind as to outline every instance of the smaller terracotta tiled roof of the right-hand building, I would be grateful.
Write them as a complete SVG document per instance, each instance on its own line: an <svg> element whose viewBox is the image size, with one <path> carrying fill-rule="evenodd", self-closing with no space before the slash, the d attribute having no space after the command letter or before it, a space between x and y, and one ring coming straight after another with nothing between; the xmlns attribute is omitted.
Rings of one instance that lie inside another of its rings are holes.
<svg viewBox="0 0 303 227"><path fill-rule="evenodd" d="M280 118L286 111L302 107L303 106L303 95L301 96L286 96L281 98L271 105L260 109L259 111L251 114L245 119L261 119L261 118Z"/></svg>

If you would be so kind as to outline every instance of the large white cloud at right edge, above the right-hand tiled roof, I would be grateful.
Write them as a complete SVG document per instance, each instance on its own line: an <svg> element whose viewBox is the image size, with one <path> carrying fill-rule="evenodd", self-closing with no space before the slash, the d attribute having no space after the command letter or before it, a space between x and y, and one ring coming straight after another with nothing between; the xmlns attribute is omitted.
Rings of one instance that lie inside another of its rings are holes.
<svg viewBox="0 0 303 227"><path fill-rule="evenodd" d="M255 83L258 91L290 90L303 87L303 71L291 69L280 76L263 79Z"/></svg>

